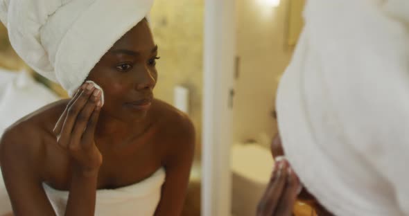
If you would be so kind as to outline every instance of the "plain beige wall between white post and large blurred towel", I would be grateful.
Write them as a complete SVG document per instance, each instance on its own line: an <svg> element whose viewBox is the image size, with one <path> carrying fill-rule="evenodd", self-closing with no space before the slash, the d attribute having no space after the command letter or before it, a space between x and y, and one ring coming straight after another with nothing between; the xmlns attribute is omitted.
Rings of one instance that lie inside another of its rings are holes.
<svg viewBox="0 0 409 216"><path fill-rule="evenodd" d="M237 55L240 59L234 98L234 141L277 133L275 95L281 74L293 54L288 43L290 3L267 0L237 1Z"/></svg>

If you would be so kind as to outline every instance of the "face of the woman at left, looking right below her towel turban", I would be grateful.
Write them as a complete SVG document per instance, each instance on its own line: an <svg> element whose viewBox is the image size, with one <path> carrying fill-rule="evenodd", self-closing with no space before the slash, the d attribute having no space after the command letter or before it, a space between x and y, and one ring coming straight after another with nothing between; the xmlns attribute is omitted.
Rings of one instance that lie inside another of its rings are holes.
<svg viewBox="0 0 409 216"><path fill-rule="evenodd" d="M104 91L105 114L121 120L146 115L157 82L156 60L157 46L148 22L143 19L89 73L87 80L93 80Z"/></svg>

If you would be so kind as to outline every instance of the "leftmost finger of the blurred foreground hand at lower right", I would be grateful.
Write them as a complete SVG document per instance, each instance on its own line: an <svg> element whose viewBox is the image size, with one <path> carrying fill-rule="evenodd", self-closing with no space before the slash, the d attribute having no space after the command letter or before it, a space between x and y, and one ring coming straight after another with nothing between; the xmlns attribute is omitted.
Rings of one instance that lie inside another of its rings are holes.
<svg viewBox="0 0 409 216"><path fill-rule="evenodd" d="M270 216L275 213L279 200L281 199L284 186L286 185L286 169L288 168L288 164L286 161L277 161L276 164L276 170L273 172L272 179L257 208L257 215L259 216Z"/></svg>

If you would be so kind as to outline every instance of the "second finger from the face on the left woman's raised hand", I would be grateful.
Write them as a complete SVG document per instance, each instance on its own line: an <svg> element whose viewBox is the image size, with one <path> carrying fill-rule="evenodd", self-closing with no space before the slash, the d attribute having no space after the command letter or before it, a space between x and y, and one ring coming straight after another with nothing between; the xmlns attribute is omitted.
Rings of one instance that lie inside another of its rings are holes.
<svg viewBox="0 0 409 216"><path fill-rule="evenodd" d="M64 120L60 132L60 138L58 144L62 147L67 148L70 140L71 133L73 132L73 126L76 123L76 119L82 108L87 104L89 96L91 96L92 91L94 90L93 84L87 84L87 88L80 93L80 96L68 107L67 116Z"/></svg>

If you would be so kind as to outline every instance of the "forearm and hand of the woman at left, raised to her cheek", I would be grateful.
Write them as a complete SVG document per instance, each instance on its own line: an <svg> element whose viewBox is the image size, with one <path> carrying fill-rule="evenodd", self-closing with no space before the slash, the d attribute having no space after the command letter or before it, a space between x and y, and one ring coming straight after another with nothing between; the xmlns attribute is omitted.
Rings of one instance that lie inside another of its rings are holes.
<svg viewBox="0 0 409 216"><path fill-rule="evenodd" d="M53 132L71 158L71 185L65 215L94 215L102 155L94 134L101 111L101 91L83 84L62 113Z"/></svg>

